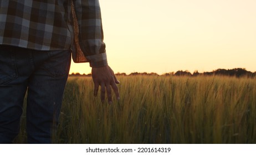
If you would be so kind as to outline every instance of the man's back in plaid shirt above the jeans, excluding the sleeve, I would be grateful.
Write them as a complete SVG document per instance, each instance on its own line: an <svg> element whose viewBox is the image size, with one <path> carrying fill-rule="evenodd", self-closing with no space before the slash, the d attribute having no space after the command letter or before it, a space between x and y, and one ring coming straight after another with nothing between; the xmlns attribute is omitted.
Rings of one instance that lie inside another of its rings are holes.
<svg viewBox="0 0 256 155"><path fill-rule="evenodd" d="M69 49L71 1L1 1L0 44L36 50Z"/></svg>

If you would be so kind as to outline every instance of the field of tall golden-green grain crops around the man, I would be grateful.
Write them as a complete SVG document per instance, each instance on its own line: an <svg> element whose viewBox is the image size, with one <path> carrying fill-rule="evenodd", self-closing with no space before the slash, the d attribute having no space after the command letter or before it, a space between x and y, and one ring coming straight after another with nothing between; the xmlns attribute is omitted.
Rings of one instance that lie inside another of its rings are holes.
<svg viewBox="0 0 256 155"><path fill-rule="evenodd" d="M117 79L121 100L109 105L93 96L91 77L69 77L54 143L256 143L256 79Z"/></svg>

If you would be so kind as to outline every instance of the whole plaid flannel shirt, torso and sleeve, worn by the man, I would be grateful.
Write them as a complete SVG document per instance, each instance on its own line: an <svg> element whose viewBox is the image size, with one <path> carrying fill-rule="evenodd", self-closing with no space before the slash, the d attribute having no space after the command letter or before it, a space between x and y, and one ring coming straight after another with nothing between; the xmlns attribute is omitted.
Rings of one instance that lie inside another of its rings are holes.
<svg viewBox="0 0 256 155"><path fill-rule="evenodd" d="M0 44L71 49L76 63L107 65L99 0L4 0L0 7Z"/></svg>

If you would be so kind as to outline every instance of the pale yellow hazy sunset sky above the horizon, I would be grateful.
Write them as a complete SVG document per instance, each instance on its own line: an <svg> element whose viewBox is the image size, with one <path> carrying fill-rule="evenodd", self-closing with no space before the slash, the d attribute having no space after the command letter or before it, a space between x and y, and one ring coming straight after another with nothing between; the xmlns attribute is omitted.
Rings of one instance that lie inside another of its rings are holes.
<svg viewBox="0 0 256 155"><path fill-rule="evenodd" d="M256 71L255 0L100 0L115 73ZM70 73L90 73L71 64Z"/></svg>

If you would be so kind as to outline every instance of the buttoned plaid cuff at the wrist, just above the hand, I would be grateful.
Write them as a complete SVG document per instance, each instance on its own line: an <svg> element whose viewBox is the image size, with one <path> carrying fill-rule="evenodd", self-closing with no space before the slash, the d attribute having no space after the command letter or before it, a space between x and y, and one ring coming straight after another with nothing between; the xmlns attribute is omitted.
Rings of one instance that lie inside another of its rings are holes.
<svg viewBox="0 0 256 155"><path fill-rule="evenodd" d="M99 68L107 65L106 53L86 56L86 59L89 60L92 68Z"/></svg>

